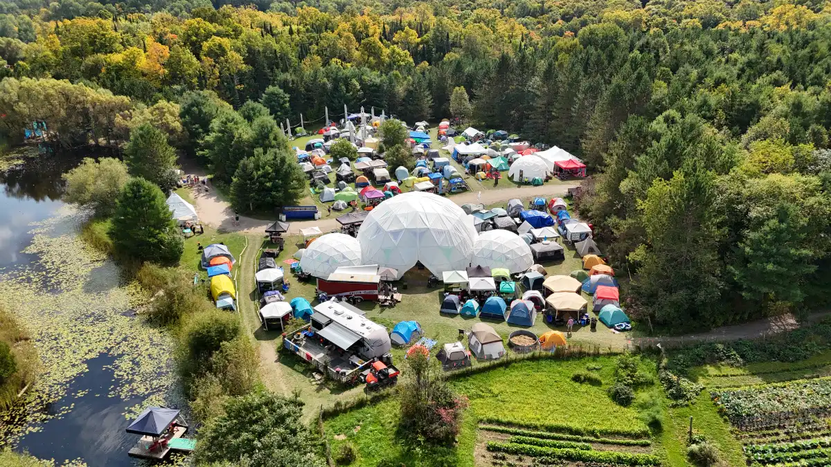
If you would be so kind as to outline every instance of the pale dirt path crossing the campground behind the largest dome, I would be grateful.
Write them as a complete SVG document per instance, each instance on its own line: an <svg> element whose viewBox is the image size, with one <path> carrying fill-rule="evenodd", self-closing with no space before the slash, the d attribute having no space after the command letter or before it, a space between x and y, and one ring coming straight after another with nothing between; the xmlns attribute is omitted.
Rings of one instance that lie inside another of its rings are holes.
<svg viewBox="0 0 831 467"><path fill-rule="evenodd" d="M191 171L199 175L198 171ZM522 186L506 189L490 189L481 192L465 192L462 194L455 194L448 199L455 204L462 205L468 203L480 204L495 204L502 201L507 202L512 198L529 198L532 196L544 196L551 198L553 196L564 196L568 193L569 188L578 186L577 183L571 184L548 184L541 186ZM233 225L234 210L231 209L230 204L221 199L216 190L210 190L209 193L196 193L194 190L194 201L196 204L196 212L199 214L199 219L204 224L212 225L218 229L226 232L241 231L246 234L263 234L263 231L271 225L273 220L253 219L246 216L239 216L239 225ZM276 220L276 219L275 219ZM297 221L291 223L290 234L298 234L300 229L306 227L317 226L322 232L339 229L340 224L337 224L336 219L320 219Z"/></svg>

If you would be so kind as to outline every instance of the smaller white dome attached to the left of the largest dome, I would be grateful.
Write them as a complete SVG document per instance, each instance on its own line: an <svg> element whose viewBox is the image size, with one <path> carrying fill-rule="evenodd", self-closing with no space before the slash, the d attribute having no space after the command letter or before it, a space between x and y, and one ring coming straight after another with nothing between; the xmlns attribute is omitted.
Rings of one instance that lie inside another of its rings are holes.
<svg viewBox="0 0 831 467"><path fill-rule="evenodd" d="M303 273L328 278L341 266L361 265L361 245L347 234L326 234L309 244L300 258Z"/></svg>

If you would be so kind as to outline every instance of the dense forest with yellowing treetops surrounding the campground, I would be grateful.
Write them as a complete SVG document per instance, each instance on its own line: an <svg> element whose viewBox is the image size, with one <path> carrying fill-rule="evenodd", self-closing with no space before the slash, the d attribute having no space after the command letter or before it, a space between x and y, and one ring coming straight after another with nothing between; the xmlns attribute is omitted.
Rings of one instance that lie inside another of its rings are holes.
<svg viewBox="0 0 831 467"><path fill-rule="evenodd" d="M275 121L438 120L463 86L458 116L593 170L578 209L632 277L635 317L712 327L829 302L824 3L243 3L0 2L0 131L48 120L57 145L118 147L149 122L230 181L255 149L287 150Z"/></svg>

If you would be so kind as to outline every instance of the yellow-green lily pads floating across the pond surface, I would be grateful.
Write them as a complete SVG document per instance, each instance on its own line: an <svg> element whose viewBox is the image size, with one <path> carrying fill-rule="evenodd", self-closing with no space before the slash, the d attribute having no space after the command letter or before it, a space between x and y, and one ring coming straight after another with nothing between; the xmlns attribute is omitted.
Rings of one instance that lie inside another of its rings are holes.
<svg viewBox="0 0 831 467"><path fill-rule="evenodd" d="M172 371L172 337L125 312L142 305L146 292L125 283L116 263L78 237L80 225L71 209L34 224L34 238L23 253L39 259L0 270L0 302L12 304L42 361L42 372L22 404L0 415L0 446L15 445L43 422L71 411L71 403L57 401L81 396L68 394L67 388L89 370L87 361L102 354L114 358L106 396L144 399L125 417L145 404L184 405ZM57 413L47 410L58 406Z"/></svg>

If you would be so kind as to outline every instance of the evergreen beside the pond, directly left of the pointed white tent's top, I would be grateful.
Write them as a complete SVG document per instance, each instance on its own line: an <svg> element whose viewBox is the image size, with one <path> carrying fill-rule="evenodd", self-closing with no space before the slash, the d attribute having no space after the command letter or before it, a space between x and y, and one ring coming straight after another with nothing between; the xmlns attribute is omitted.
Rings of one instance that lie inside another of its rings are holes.
<svg viewBox="0 0 831 467"><path fill-rule="evenodd" d="M124 160L134 177L149 180L164 190L176 184L176 151L168 144L167 135L149 123L130 131Z"/></svg>

